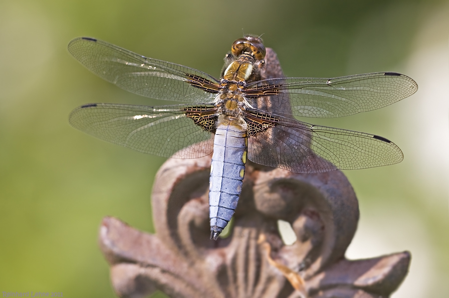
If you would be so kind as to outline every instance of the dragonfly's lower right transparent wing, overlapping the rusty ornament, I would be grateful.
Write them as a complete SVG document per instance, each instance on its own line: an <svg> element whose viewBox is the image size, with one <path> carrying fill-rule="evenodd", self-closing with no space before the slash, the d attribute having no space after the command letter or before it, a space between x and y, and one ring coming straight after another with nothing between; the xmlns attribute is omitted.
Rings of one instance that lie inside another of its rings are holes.
<svg viewBox="0 0 449 298"><path fill-rule="evenodd" d="M249 160L295 173L321 173L391 165L403 159L401 149L380 136L276 117L276 126L249 136Z"/></svg>

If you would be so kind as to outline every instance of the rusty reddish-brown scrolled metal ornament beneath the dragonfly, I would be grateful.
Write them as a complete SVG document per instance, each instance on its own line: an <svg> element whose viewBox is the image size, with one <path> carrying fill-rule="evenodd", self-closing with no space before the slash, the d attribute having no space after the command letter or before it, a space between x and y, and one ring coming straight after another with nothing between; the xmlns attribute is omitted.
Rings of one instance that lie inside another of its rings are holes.
<svg viewBox="0 0 449 298"><path fill-rule="evenodd" d="M276 54L266 52L264 77L281 77ZM231 234L210 240L210 167L211 156L169 159L161 167L152 196L154 235L103 219L100 246L117 295L387 298L407 275L409 252L345 258L359 208L340 171L296 174L248 162ZM293 227L293 245L283 244L278 219Z"/></svg>

